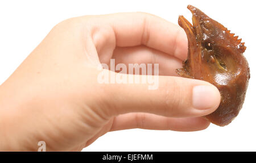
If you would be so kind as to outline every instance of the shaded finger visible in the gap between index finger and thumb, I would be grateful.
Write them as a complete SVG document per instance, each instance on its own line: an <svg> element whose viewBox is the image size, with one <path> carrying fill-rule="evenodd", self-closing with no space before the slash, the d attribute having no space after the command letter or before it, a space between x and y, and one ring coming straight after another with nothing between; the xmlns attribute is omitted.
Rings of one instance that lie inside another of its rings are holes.
<svg viewBox="0 0 256 163"><path fill-rule="evenodd" d="M182 61L174 56L148 48L144 45L136 47L117 47L112 58L115 59L115 64L159 64L159 75L177 76L175 69L182 67Z"/></svg>

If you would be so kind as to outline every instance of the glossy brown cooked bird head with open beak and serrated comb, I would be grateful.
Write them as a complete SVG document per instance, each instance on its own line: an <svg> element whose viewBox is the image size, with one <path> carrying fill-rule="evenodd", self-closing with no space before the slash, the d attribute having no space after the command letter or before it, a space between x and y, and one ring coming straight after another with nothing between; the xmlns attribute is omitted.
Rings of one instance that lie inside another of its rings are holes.
<svg viewBox="0 0 256 163"><path fill-rule="evenodd" d="M212 83L221 93L220 106L205 116L218 126L232 122L241 110L250 78L245 43L238 36L196 7L188 5L192 22L179 16L179 25L188 37L188 58L176 72L181 77Z"/></svg>

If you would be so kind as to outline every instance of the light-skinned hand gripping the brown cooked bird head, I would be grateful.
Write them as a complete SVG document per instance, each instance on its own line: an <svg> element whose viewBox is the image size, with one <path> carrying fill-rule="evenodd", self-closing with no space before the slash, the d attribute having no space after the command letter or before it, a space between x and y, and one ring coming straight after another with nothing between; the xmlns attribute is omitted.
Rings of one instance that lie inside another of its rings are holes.
<svg viewBox="0 0 256 163"><path fill-rule="evenodd" d="M98 65L110 58L116 64L158 63L158 89L97 82L100 72L109 73ZM220 93L208 82L177 77L185 58L185 32L154 15L64 20L0 86L0 150L37 151L43 140L47 151L80 151L109 131L205 129L209 122L200 116L216 110ZM196 107L195 86L208 88Z"/></svg>

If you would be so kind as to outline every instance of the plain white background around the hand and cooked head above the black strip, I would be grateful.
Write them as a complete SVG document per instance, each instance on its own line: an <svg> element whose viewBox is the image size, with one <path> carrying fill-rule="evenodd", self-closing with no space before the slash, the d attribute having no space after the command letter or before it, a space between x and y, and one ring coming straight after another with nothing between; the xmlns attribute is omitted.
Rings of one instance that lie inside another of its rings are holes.
<svg viewBox="0 0 256 163"><path fill-rule="evenodd" d="M114 12L143 11L177 23L191 21L187 5L241 36L247 47L251 79L238 117L226 127L211 124L204 131L175 132L129 129L106 133L83 151L256 151L255 75L256 23L254 1L0 1L0 83L61 20Z"/></svg>

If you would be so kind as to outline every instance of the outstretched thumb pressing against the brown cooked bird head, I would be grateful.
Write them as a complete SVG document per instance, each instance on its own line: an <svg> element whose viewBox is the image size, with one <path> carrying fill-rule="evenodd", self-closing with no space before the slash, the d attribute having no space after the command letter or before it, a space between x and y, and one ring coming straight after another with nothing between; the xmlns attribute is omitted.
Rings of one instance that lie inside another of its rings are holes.
<svg viewBox="0 0 256 163"><path fill-rule="evenodd" d="M112 73L112 77L123 78L123 82L117 81L106 86L107 106L113 115L148 112L177 118L203 116L216 110L220 104L220 93L209 82L172 76L108 72ZM152 82L143 82L148 77L154 78L155 89L152 89ZM137 83L136 78L139 79Z"/></svg>

